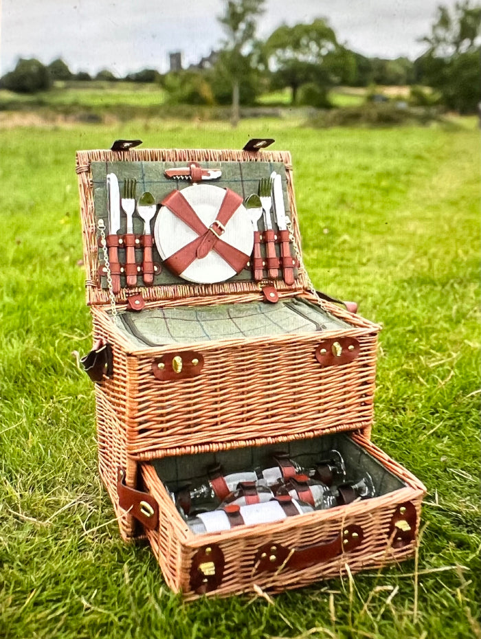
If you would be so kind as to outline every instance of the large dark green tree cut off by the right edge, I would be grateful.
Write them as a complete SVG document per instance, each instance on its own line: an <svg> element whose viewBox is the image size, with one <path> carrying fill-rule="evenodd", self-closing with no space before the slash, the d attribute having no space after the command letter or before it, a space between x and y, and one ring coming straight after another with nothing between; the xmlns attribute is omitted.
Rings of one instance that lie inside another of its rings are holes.
<svg viewBox="0 0 481 639"><path fill-rule="evenodd" d="M481 100L481 6L469 0L450 11L438 7L431 34L423 38L427 51L415 62L416 82L437 89L449 109L476 111Z"/></svg>

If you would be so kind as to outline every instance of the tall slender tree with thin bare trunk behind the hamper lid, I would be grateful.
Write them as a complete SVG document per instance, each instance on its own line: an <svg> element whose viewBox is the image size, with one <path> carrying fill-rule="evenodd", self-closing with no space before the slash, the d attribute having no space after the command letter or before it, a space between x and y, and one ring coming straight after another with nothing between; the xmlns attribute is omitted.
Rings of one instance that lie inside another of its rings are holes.
<svg viewBox="0 0 481 639"><path fill-rule="evenodd" d="M227 40L218 65L232 89L233 126L239 120L240 83L256 62L256 17L264 13L264 4L265 0L227 0L219 17Z"/></svg>

